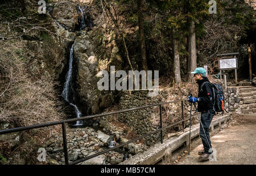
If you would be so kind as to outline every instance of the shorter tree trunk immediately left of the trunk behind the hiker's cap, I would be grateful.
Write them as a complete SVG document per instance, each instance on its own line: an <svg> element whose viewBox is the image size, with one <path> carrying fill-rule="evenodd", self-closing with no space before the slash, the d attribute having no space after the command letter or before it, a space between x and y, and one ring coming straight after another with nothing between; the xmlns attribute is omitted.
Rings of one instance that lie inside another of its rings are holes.
<svg viewBox="0 0 256 176"><path fill-rule="evenodd" d="M173 51L174 51L174 79L175 83L181 82L180 77L180 55L179 55L179 41L172 37L173 39Z"/></svg>

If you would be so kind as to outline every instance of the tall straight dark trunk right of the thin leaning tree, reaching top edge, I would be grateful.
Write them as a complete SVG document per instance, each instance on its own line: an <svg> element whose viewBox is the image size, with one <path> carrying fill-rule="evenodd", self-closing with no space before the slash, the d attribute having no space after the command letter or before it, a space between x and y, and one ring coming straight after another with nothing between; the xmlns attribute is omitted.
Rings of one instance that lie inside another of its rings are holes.
<svg viewBox="0 0 256 176"><path fill-rule="evenodd" d="M144 17L142 10L142 0L137 1L138 6L138 26L139 26L139 49L141 51L142 69L147 72L147 56L146 56L146 44L144 36Z"/></svg>

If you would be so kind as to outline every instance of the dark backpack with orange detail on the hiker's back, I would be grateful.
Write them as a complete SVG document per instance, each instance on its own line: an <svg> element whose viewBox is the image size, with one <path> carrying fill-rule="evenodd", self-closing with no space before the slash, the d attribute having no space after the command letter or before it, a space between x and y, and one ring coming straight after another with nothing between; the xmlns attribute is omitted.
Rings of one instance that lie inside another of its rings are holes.
<svg viewBox="0 0 256 176"><path fill-rule="evenodd" d="M209 83L212 86L212 92L213 92L213 110L216 112L223 112L224 113L224 92L221 85L218 85L217 83L210 83L210 82L204 82ZM204 83L201 85L201 90L203 90Z"/></svg>

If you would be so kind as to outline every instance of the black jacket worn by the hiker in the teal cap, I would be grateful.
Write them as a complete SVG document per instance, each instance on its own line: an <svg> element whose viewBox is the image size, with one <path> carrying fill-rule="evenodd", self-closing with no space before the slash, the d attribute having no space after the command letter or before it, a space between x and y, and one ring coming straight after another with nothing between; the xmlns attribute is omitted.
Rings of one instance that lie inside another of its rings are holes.
<svg viewBox="0 0 256 176"><path fill-rule="evenodd" d="M209 79L205 77L196 82L199 86L197 110L199 112L204 112L209 110L211 114L215 114L215 111L213 110L214 99L213 99L212 86L209 83L204 83L204 82L209 82ZM203 89L201 90L201 85L203 83L204 83L204 86L203 86Z"/></svg>

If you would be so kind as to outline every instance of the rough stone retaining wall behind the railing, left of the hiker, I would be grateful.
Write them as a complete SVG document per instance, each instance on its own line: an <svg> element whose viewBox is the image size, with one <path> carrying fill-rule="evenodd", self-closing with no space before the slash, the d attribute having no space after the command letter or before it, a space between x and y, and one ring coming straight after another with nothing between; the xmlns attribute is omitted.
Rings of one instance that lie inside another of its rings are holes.
<svg viewBox="0 0 256 176"><path fill-rule="evenodd" d="M177 92L176 92L177 91ZM147 97L148 91L123 91L119 110L127 108L141 107L150 104L158 104L171 100L185 99L187 97L187 89L185 87L179 89L164 89L159 91L156 97ZM189 111L188 111L189 110ZM188 118L190 107L188 102L184 102L184 118ZM160 110L159 106L148 107L142 110L135 110L118 114L118 121L130 128L129 131L134 132L138 136L146 135L160 128ZM111 119L111 118L110 118ZM181 102L166 104L162 106L163 127L175 123L182 119ZM107 118L101 120L101 124L108 124ZM185 127L188 123L184 124ZM163 137L166 137L170 131L182 130L182 124L163 131ZM145 137L145 144L152 145L160 141L160 133Z"/></svg>

